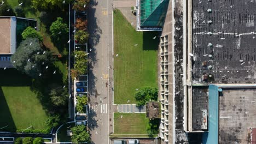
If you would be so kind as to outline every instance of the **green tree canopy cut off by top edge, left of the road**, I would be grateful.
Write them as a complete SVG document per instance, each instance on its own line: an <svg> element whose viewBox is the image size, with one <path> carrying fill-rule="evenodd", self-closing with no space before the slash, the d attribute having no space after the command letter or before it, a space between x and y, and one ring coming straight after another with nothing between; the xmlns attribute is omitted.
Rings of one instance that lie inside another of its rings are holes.
<svg viewBox="0 0 256 144"><path fill-rule="evenodd" d="M65 4L72 2L73 0L66 0L63 3L63 0L31 0L32 7L36 9L53 9L55 7L63 7Z"/></svg>

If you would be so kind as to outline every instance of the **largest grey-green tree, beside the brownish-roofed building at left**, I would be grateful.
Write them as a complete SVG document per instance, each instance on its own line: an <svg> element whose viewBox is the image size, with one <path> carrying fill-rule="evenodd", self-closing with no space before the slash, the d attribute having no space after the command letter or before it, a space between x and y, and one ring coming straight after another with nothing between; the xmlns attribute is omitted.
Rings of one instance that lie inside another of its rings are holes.
<svg viewBox="0 0 256 144"><path fill-rule="evenodd" d="M54 59L51 52L43 52L38 39L27 38L11 56L13 67L33 78L39 77L40 73L46 74L46 66L50 67Z"/></svg>

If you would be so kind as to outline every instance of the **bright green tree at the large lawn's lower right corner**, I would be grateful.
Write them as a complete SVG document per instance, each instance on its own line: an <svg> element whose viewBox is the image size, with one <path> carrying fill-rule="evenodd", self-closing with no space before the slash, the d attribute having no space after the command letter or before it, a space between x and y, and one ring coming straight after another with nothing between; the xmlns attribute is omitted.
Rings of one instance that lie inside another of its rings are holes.
<svg viewBox="0 0 256 144"><path fill-rule="evenodd" d="M135 93L135 99L137 100L136 106L145 105L150 100L158 100L158 88L144 87Z"/></svg>

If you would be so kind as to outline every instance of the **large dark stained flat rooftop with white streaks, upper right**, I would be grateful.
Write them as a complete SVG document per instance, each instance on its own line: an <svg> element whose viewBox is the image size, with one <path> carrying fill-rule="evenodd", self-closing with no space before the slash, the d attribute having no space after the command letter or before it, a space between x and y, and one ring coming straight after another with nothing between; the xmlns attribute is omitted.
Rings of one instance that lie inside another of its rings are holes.
<svg viewBox="0 0 256 144"><path fill-rule="evenodd" d="M256 2L193 0L192 9L193 83L255 83Z"/></svg>

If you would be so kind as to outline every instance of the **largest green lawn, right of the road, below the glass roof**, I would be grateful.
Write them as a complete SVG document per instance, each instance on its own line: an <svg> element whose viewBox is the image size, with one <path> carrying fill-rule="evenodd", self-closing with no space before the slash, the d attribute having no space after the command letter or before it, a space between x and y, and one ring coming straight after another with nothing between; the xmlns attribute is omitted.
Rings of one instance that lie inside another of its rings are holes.
<svg viewBox="0 0 256 144"><path fill-rule="evenodd" d="M136 103L136 88L157 86L158 32L137 32L120 10L114 13L114 103ZM137 44L137 46L135 46ZM118 54L118 57L116 55Z"/></svg>

